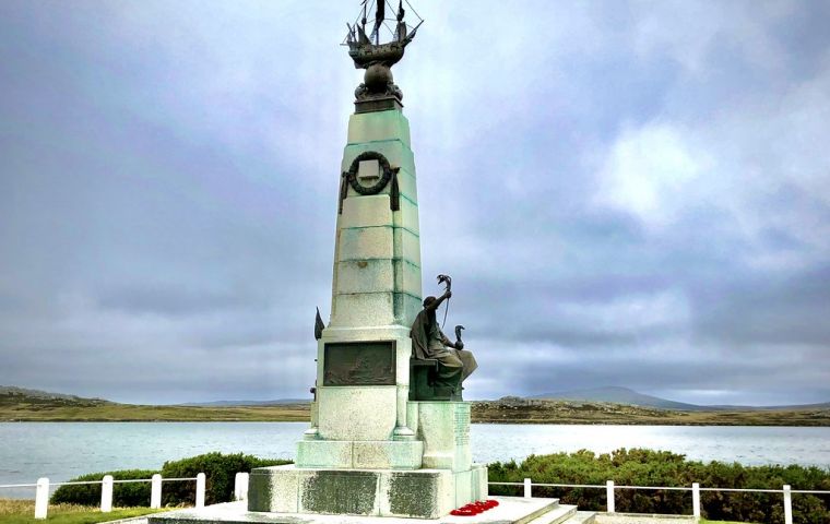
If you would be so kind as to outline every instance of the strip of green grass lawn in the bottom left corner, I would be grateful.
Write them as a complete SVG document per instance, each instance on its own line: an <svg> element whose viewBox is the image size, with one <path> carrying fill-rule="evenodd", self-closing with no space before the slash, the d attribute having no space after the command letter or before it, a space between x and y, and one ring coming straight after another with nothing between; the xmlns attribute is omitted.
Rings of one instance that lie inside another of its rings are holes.
<svg viewBox="0 0 830 524"><path fill-rule="evenodd" d="M46 521L35 520L34 500L0 499L0 523L2 524L94 524L96 522L129 519L149 513L158 513L150 508L114 508L109 513L102 513L97 507L73 504L49 504Z"/></svg>

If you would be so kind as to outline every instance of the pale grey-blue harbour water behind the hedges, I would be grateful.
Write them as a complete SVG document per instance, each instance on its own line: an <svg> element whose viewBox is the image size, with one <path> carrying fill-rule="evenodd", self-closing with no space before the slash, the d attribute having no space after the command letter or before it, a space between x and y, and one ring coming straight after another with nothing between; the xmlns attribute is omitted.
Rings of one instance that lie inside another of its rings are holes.
<svg viewBox="0 0 830 524"><path fill-rule="evenodd" d="M306 422L3 422L0 485L68 480L85 473L159 468L165 461L220 451L294 458ZM520 461L531 454L649 448L700 461L830 468L830 428L722 426L557 426L475 424L473 458ZM0 498L34 498L34 488Z"/></svg>

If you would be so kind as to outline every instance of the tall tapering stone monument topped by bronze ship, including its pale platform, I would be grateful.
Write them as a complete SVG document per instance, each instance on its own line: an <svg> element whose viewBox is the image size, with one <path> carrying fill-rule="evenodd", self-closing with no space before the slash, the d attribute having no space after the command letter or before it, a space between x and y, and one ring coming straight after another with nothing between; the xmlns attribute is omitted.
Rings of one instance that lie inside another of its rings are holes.
<svg viewBox="0 0 830 524"><path fill-rule="evenodd" d="M297 443L295 464L251 472L247 508L183 510L151 516L152 524L311 523L324 514L354 515L337 522L440 519L487 498L487 468L472 461L471 405L462 400L462 381L477 365L461 341L463 326L453 343L436 318L452 295L450 277L439 275L443 295L422 300L415 160L391 67L423 21L408 25L403 2L390 21L380 0L367 35L363 3L345 40L355 67L366 72L333 186L340 199L332 210L331 318L327 325L318 311L315 324L311 426ZM394 29L381 44L384 22ZM530 522L557 507L550 499L511 504L518 509L505 503L502 514L486 522Z"/></svg>

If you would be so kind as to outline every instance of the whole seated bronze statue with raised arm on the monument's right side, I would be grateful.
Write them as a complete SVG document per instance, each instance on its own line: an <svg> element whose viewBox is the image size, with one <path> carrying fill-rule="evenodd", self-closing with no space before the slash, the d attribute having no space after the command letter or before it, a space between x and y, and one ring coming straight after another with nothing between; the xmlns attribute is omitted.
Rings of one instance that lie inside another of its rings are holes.
<svg viewBox="0 0 830 524"><path fill-rule="evenodd" d="M458 340L453 343L438 325L436 311L441 302L452 297L449 277L440 275L439 282L447 283L447 290L438 298L425 298L424 310L415 317L415 322L412 324L410 331L412 357L417 360L437 361L438 370L431 385L449 389L455 398L460 398L461 383L475 371L478 365L473 354L464 349L464 343L461 341L463 326L456 326Z"/></svg>

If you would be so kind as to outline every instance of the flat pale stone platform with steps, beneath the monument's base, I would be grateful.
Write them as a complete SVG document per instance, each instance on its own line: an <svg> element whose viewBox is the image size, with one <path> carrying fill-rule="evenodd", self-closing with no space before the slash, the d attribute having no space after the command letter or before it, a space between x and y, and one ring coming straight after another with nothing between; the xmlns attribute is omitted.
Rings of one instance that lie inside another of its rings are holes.
<svg viewBox="0 0 830 524"><path fill-rule="evenodd" d="M499 505L474 516L401 519L390 516L321 515L251 512L246 502L177 510L149 516L150 524L592 524L594 513L577 512L558 499L491 497Z"/></svg>

